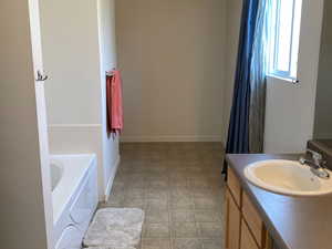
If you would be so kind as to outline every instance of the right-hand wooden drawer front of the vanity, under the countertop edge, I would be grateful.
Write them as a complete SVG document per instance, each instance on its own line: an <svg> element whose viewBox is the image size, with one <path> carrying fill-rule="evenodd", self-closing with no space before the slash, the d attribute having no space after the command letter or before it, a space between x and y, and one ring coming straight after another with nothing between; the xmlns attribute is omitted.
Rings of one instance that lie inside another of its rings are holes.
<svg viewBox="0 0 332 249"><path fill-rule="evenodd" d="M242 194L242 214L258 246L263 248L266 243L266 228L259 212L245 191Z"/></svg>

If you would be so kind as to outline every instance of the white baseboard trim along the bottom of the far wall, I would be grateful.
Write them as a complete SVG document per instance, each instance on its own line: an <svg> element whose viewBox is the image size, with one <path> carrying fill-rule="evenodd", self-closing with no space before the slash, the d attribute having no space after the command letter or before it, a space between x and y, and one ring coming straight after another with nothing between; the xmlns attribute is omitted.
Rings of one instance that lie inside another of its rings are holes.
<svg viewBox="0 0 332 249"><path fill-rule="evenodd" d="M121 142L222 142L222 135L207 136L121 136Z"/></svg>

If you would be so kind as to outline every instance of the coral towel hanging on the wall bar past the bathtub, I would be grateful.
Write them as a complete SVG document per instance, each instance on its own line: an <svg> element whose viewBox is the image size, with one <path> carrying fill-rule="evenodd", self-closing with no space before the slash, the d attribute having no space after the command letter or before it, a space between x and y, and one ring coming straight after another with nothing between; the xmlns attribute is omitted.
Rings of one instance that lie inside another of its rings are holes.
<svg viewBox="0 0 332 249"><path fill-rule="evenodd" d="M120 134L123 129L122 82L118 70L106 76L107 133Z"/></svg>

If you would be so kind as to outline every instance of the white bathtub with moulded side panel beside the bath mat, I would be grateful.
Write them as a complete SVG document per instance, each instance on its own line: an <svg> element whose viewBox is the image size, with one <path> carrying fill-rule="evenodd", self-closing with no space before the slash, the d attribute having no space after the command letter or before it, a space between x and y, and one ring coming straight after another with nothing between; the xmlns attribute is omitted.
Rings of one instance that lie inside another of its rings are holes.
<svg viewBox="0 0 332 249"><path fill-rule="evenodd" d="M96 156L51 155L55 249L80 249L97 206Z"/></svg>

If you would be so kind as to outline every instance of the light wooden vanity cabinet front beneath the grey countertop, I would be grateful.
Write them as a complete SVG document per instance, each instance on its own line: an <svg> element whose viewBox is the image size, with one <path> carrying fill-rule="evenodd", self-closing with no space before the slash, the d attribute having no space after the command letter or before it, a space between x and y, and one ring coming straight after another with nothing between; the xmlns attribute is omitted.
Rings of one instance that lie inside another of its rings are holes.
<svg viewBox="0 0 332 249"><path fill-rule="evenodd" d="M226 249L272 249L266 226L229 168L226 190Z"/></svg>

